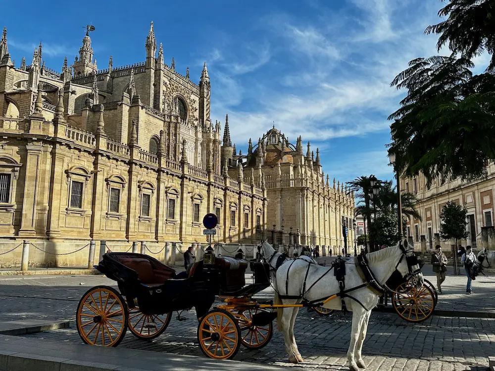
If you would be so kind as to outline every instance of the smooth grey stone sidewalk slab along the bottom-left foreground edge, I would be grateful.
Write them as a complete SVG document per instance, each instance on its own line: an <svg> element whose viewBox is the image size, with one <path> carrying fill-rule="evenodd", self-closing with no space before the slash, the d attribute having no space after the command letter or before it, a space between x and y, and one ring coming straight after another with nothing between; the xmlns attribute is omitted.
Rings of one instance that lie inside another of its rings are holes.
<svg viewBox="0 0 495 371"><path fill-rule="evenodd" d="M61 344L0 335L0 371L232 370L277 371L283 368L239 361L212 360L143 350Z"/></svg>

